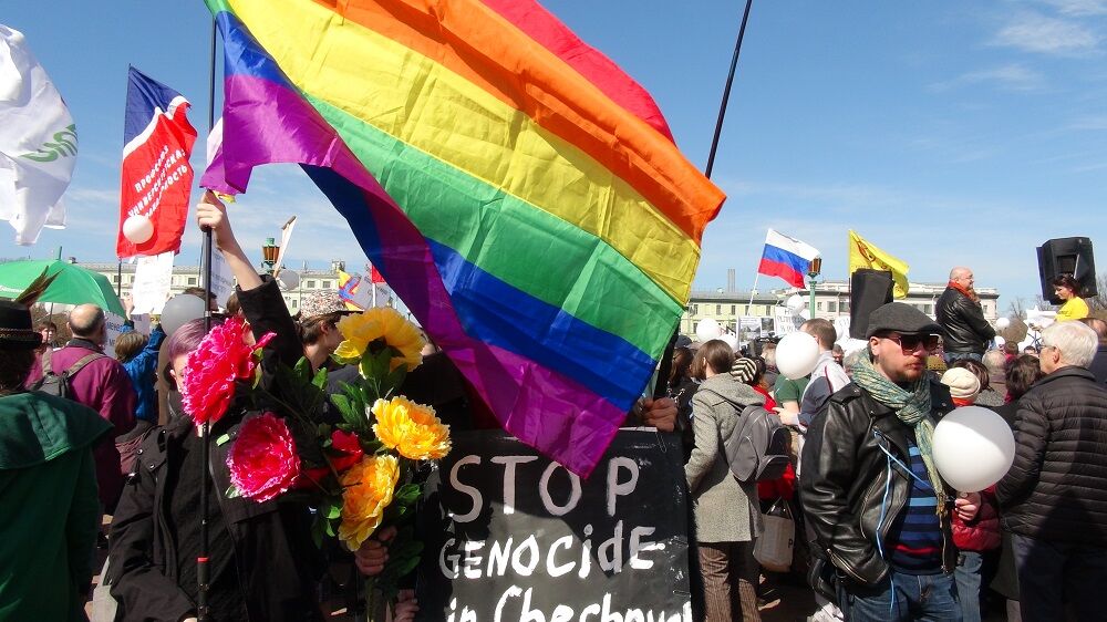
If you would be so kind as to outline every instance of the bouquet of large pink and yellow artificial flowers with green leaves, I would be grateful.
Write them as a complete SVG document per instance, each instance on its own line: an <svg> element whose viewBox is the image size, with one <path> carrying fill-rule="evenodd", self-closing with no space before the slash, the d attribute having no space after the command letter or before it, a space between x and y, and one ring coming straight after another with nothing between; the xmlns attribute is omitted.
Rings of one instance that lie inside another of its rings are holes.
<svg viewBox="0 0 1107 622"><path fill-rule="evenodd" d="M260 385L261 350L273 335L250 345L244 340L249 328L237 318L213 329L189 354L182 393L197 425L217 422L236 396L262 411L234 437L215 439L232 443L227 496L306 502L315 512L312 537L319 546L338 538L356 551L377 530L396 527L384 570L366 581L374 615L375 594L394 602L399 580L418 563L423 545L410 525L422 494L415 471L420 463L449 452L449 427L432 407L396 394L422 362L418 329L389 308L348 315L338 329L344 341L334 359L360 372L356 382L343 383L341 394L330 395L339 423L322 421L327 371L312 374L307 359L277 370L280 396Z"/></svg>

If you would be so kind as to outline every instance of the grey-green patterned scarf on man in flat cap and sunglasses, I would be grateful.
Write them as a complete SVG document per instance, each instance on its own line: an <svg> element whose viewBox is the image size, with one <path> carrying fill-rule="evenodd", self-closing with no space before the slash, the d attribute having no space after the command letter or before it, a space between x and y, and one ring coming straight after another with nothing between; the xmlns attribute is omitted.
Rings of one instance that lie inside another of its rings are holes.
<svg viewBox="0 0 1107 622"><path fill-rule="evenodd" d="M942 478L934 466L934 424L930 418L930 383L918 380L903 388L884 377L872 366L868 356L861 356L853 367L853 383L869 392L869 395L881 404L896 408L896 416L914 429L914 442L922 454L922 462L930 475L930 485L938 496L938 514L942 514L945 504L945 488Z"/></svg>

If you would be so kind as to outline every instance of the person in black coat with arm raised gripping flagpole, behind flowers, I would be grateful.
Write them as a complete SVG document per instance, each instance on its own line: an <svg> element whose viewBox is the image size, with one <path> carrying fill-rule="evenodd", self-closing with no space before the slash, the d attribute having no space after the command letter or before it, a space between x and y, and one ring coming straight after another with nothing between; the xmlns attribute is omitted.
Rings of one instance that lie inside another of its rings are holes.
<svg viewBox="0 0 1107 622"><path fill-rule="evenodd" d="M271 277L260 277L235 240L224 208L214 197L197 209L201 227L238 280L238 298L256 338L277 336L262 353L262 383L280 394L279 364L292 366L303 354L296 326ZM204 320L178 329L166 348L174 379L188 352L204 338ZM172 402L170 402L172 405ZM118 602L116 620L179 622L197 615L196 558L200 552L201 479L209 476L208 605L210 620L322 620L315 583L324 567L310 536L306 505L227 498L227 453L241 424L259 413L235 400L210 428L210 463L203 464L201 439L190 417L176 412L151 434L137 452L111 527L111 593Z"/></svg>

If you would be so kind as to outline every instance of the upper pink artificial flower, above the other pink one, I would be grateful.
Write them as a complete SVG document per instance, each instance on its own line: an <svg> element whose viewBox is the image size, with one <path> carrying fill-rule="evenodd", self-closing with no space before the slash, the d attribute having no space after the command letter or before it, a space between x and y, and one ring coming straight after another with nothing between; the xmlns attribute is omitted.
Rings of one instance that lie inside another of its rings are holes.
<svg viewBox="0 0 1107 622"><path fill-rule="evenodd" d="M254 377L255 353L276 336L268 333L250 345L242 339L248 330L246 320L229 318L188 353L179 386L185 412L197 425L223 418L235 396L235 383Z"/></svg>

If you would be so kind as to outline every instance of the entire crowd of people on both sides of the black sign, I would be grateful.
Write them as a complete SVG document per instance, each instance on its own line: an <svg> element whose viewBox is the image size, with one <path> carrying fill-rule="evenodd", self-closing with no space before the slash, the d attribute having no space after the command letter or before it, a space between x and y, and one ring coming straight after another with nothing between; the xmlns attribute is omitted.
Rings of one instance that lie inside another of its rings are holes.
<svg viewBox="0 0 1107 622"><path fill-rule="evenodd" d="M82 304L69 313L72 339L53 348L58 326L32 324L33 301L0 301L0 500L21 508L0 518L0 620L84 620L97 549L106 549L100 584L115 620L197 618L204 478L211 483L210 619L328 613L320 584L337 553L312 542L308 508L227 497L227 448L210 444L210 463L203 463L204 439L177 384L208 324L241 315L250 326L245 339L276 335L262 350L268 393L280 398L278 366L301 357L332 371L337 391L351 373L331 357L349 311L337 293L321 294L293 318L277 282L246 258L214 196L199 205L197 224L213 231L238 286L223 314L172 335L156 324L148 336L125 330L107 356L104 311ZM628 425L682 437L695 618L759 620L763 512L785 505L796 528L789 572L815 592L811 620L976 622L987 608L1007 620L1103 619L1096 590L1107 580L1107 323L1087 317L1072 277L1055 287L1064 305L1030 352L996 345L965 268L951 272L937 321L884 304L867 318L859 350L844 351L845 335L829 321L805 322L799 330L819 351L805 377L778 372L774 343L736 353L722 340L682 340L665 379L669 396L641 401ZM405 393L457 428L494 426L430 341L424 355ZM60 394L33 391L59 379ZM1016 453L994 486L956 490L935 467L934 429L971 405L1010 425ZM726 448L751 407L789 431L790 464L779 478L734 475ZM235 402L209 434L232 437L259 415L258 404ZM392 535L366 541L348 566L380 572ZM405 593L395 620L415 611Z"/></svg>

